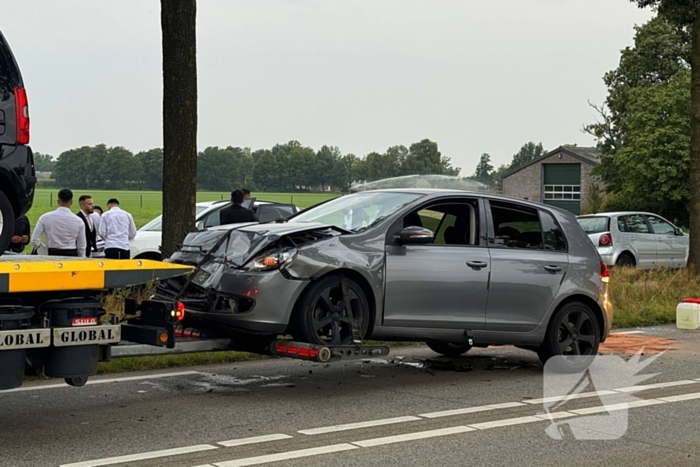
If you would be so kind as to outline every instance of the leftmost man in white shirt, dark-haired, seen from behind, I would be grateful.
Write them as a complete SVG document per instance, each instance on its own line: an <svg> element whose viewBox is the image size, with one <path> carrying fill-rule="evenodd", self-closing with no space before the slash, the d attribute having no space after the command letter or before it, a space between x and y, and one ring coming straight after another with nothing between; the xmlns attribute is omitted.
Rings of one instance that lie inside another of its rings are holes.
<svg viewBox="0 0 700 467"><path fill-rule="evenodd" d="M35 248L41 246L45 235L50 256L85 256L85 224L71 212L72 205L73 192L67 188L59 191L58 208L43 214L36 223L32 239Z"/></svg>

